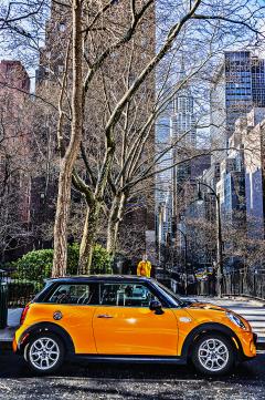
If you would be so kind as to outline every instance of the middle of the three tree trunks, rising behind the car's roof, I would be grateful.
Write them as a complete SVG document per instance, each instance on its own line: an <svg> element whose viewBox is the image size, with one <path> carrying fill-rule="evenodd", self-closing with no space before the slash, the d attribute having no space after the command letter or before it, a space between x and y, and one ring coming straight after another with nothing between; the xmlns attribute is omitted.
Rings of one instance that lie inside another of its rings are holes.
<svg viewBox="0 0 265 400"><path fill-rule="evenodd" d="M78 274L80 275L89 275L92 270L92 256L93 248L95 245L98 217L102 205L99 202L95 201L91 206L87 206L86 219L81 242L80 248L80 263L78 263Z"/></svg>

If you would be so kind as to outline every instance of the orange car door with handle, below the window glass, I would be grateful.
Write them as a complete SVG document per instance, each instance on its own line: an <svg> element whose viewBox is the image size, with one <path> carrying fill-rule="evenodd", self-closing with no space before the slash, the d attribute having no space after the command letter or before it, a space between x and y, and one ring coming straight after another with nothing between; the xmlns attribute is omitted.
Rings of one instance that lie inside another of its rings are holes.
<svg viewBox="0 0 265 400"><path fill-rule="evenodd" d="M171 309L156 315L145 307L98 307L93 328L98 353L177 356L178 327Z"/></svg>

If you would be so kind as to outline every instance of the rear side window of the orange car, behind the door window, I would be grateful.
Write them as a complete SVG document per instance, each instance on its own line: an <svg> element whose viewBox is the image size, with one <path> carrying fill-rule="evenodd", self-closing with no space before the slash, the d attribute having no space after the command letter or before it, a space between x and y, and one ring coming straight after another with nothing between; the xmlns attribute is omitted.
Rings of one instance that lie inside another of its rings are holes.
<svg viewBox="0 0 265 400"><path fill-rule="evenodd" d="M51 294L47 302L67 305L97 305L98 290L95 284L63 284Z"/></svg>

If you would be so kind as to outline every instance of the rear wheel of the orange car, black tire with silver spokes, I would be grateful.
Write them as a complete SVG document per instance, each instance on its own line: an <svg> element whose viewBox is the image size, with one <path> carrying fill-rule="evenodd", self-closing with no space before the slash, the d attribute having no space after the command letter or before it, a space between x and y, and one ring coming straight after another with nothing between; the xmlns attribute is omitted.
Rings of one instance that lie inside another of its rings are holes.
<svg viewBox="0 0 265 400"><path fill-rule="evenodd" d="M41 343L47 346L47 349L42 348ZM38 355L38 349L40 349L40 355ZM38 358L38 356L40 357ZM62 366L64 356L65 348L62 339L52 332L41 332L32 337L24 348L24 360L38 375L55 372ZM39 367L38 363L40 363ZM49 363L51 365L49 366Z"/></svg>

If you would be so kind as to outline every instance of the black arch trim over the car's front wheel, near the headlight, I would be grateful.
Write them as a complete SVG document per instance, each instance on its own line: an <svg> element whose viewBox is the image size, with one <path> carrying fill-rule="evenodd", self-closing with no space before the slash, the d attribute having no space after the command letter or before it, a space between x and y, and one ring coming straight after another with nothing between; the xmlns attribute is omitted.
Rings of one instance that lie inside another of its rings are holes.
<svg viewBox="0 0 265 400"><path fill-rule="evenodd" d="M202 336L209 335L209 334L219 334L230 339L235 353L237 356L243 355L243 349L241 341L239 337L235 335L235 332L226 327L225 325L219 324L219 322L205 322L200 325L199 327L195 327L192 329L189 335L186 337L186 340L182 345L181 349L181 357L186 358L187 360L191 357L191 349L192 345Z"/></svg>

